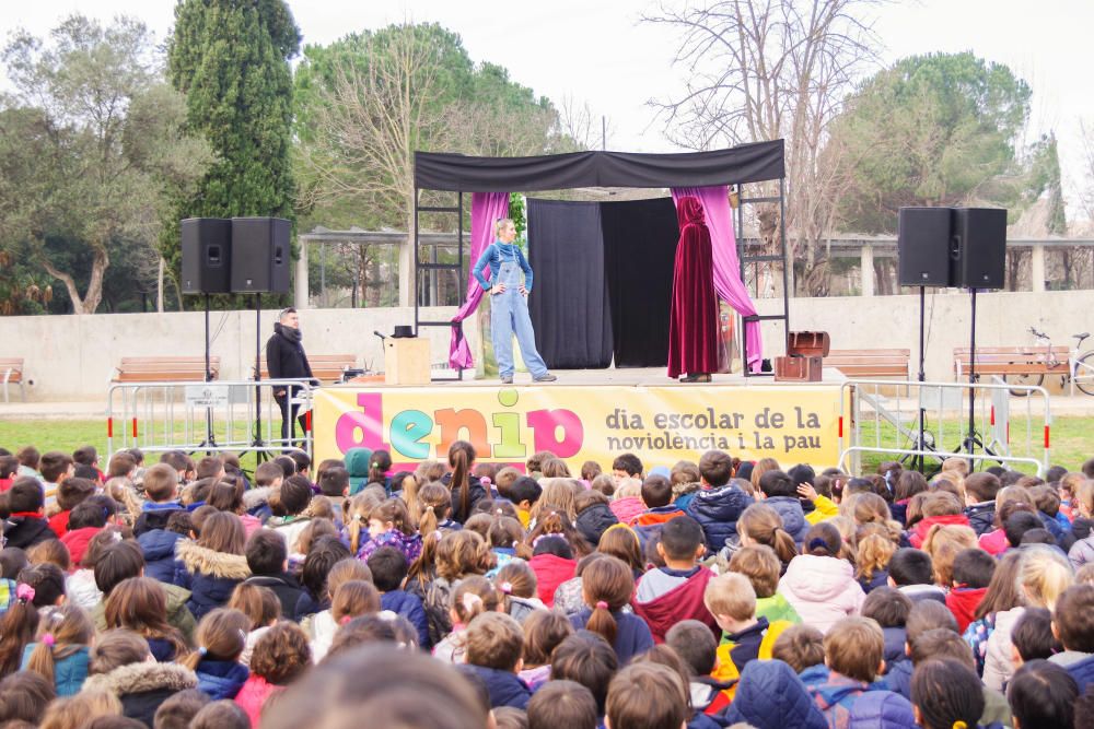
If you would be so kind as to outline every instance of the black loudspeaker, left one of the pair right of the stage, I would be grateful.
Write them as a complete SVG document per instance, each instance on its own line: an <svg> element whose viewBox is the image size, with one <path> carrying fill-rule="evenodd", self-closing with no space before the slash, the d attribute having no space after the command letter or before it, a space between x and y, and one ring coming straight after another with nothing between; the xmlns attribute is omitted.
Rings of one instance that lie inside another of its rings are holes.
<svg viewBox="0 0 1094 729"><path fill-rule="evenodd" d="M901 286L948 286L950 208L900 208L897 216L897 282Z"/></svg>

